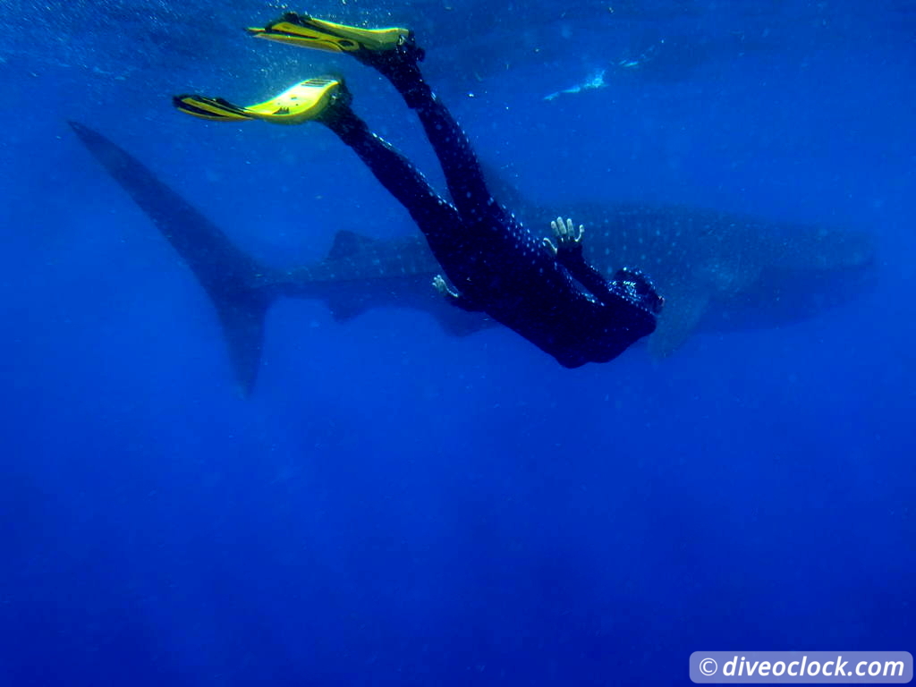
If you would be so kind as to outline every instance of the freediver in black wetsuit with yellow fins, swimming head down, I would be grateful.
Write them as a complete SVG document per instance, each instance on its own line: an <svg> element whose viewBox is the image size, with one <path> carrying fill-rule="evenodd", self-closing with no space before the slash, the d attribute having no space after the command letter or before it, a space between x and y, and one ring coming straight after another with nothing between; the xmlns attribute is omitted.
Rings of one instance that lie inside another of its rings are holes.
<svg viewBox="0 0 916 687"><path fill-rule="evenodd" d="M181 95L183 112L216 121L318 121L330 128L409 211L452 282L433 284L455 306L485 311L561 365L604 363L652 333L662 299L649 278L619 269L611 280L583 257L583 227L551 222L556 245L539 242L486 188L470 142L420 73L423 51L402 28L346 27L289 13L264 28L268 38L314 49L349 52L385 76L416 110L439 158L453 202L434 191L407 158L369 131L337 79L296 84L267 103L240 107L221 98Z"/></svg>

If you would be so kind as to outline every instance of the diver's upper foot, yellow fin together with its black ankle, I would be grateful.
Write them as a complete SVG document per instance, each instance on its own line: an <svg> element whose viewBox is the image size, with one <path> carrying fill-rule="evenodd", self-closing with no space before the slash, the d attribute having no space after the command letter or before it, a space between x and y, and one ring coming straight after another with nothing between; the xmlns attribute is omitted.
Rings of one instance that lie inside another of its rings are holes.
<svg viewBox="0 0 916 687"><path fill-rule="evenodd" d="M266 27L252 27L248 33L256 38L276 40L300 48L344 52L370 66L382 68L387 62L420 61L413 32L407 28L360 28L336 24L312 16L287 12Z"/></svg>

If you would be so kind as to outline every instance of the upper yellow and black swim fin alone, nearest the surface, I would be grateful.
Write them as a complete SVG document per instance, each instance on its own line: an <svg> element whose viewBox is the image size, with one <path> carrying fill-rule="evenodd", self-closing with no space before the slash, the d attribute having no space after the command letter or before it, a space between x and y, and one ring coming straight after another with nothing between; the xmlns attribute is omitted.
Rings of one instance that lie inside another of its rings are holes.
<svg viewBox="0 0 916 687"><path fill-rule="evenodd" d="M250 27L248 33L256 38L267 38L289 43L300 48L327 52L379 52L393 50L409 38L407 28L359 28L331 21L315 19L296 12L287 12L266 27Z"/></svg>

